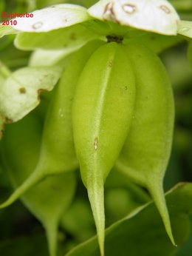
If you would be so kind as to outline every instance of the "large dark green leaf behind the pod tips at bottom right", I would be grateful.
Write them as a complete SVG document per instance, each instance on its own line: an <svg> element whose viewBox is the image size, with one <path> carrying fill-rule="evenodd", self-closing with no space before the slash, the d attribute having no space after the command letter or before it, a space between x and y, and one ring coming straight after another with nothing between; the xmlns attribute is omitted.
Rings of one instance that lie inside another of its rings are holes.
<svg viewBox="0 0 192 256"><path fill-rule="evenodd" d="M190 233L189 215L192 212L192 183L180 183L166 194L174 236L174 247L165 234L162 220L154 203L137 208L126 218L106 229L106 256L171 256ZM97 238L87 240L66 256L97 256Z"/></svg>

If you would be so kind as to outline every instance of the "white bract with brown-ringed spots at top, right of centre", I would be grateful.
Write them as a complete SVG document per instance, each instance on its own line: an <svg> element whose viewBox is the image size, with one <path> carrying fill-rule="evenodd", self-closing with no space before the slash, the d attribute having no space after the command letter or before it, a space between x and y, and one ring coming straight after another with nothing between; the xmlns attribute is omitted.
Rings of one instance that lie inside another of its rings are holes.
<svg viewBox="0 0 192 256"><path fill-rule="evenodd" d="M90 16L165 35L176 35L179 16L166 0L101 0Z"/></svg>

